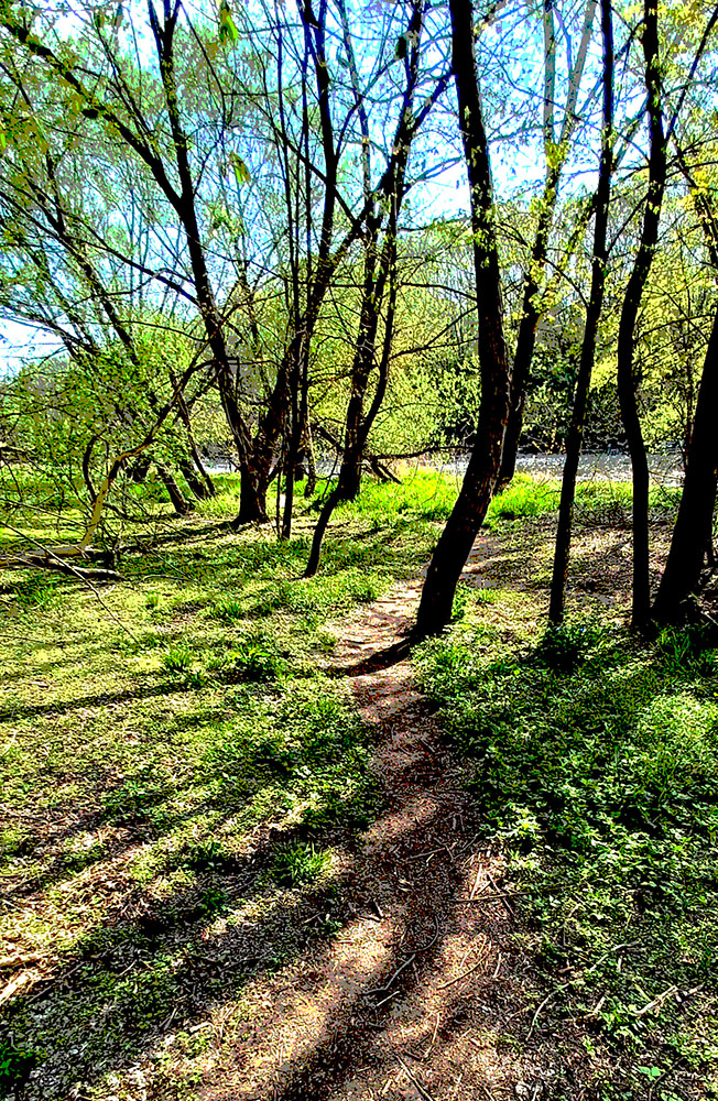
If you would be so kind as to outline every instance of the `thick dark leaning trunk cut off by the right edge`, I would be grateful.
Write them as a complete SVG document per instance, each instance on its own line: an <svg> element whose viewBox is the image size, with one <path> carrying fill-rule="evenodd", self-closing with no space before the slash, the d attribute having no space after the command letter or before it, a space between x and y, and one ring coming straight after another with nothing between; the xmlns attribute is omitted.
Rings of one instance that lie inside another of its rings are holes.
<svg viewBox="0 0 718 1101"><path fill-rule="evenodd" d="M718 410L718 309L698 389L678 517L653 606L653 619L659 623L675 623L681 620L686 600L698 591L706 553L712 545L718 475L716 410Z"/></svg>

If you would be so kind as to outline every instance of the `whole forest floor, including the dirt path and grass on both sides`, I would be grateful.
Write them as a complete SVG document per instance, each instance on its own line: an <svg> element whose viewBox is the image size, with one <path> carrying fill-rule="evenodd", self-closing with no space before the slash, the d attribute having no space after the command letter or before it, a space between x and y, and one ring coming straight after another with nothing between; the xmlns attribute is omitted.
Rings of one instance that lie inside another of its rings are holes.
<svg viewBox="0 0 718 1101"><path fill-rule="evenodd" d="M9 593L0 1095L715 1095L712 655L625 634L605 489L542 641L522 482L410 657L427 487L340 516L313 582L301 526L196 521L101 606Z"/></svg>

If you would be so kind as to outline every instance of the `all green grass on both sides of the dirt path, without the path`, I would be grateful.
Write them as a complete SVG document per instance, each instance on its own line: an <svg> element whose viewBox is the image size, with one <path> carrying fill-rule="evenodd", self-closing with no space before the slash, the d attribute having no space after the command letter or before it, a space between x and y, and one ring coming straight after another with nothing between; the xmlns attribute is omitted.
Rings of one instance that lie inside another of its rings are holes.
<svg viewBox="0 0 718 1101"><path fill-rule="evenodd" d="M417 574L456 481L367 482L311 580L315 512L300 501L289 542L233 534L218 521L237 480L218 484L183 521L162 494L144 502L149 519L124 531L127 580L101 603L65 578L2 579L0 958L28 962L3 1006L0 1095L64 1101L80 1082L88 1101L134 1097L142 1058L149 1095L193 1097L192 1023L216 1005L231 1015L248 983L345 919L338 853L380 800L371 734L323 672L333 621ZM51 544L76 531L76 510L51 513L52 486L34 492L48 511L28 528L10 501L13 527ZM526 520L550 521L555 502L519 478L488 524L521 549ZM577 515L608 523L628 503L581 487ZM2 549L18 538L0 532ZM675 999L637 1016L671 984L714 982L712 656L679 632L645 653L601 622L532 639L532 600L461 585L452 632L417 665L525 892L536 1007L551 994L536 1027L599 1005L592 1023L639 1053L650 1084L716 1045L690 1004L683 1031Z"/></svg>

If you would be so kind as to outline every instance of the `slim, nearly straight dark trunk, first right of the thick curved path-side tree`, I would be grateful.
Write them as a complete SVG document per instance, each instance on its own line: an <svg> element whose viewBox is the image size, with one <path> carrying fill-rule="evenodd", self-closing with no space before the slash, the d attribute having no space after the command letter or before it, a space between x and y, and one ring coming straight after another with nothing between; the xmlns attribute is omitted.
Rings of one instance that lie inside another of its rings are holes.
<svg viewBox="0 0 718 1101"><path fill-rule="evenodd" d="M611 197L611 170L613 163L613 26L611 18L611 0L601 0L601 28L603 32L603 128L601 132L601 163L596 188L596 226L594 230L594 254L591 259L591 288L586 310L586 327L581 345L576 394L572 413L570 427L566 443L566 462L561 487L561 503L558 508L558 530L556 532L556 548L554 554L554 571L551 584L551 602L548 620L561 623L564 618L564 601L566 592L566 576L570 553L570 535L574 519L574 500L576 497L576 477L578 460L584 442L586 425L586 408L588 391L596 357L596 337L598 324L603 308L603 291L606 285L606 264L608 249L608 210Z"/></svg>

